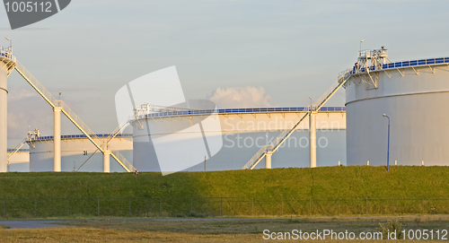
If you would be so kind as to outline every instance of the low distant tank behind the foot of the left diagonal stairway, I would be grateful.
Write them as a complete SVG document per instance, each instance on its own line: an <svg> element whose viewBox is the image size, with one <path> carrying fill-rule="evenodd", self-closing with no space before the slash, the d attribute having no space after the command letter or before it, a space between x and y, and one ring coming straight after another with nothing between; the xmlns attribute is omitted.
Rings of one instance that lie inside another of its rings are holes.
<svg viewBox="0 0 449 243"><path fill-rule="evenodd" d="M109 140L109 135L96 136L98 139L95 139L95 142L104 147ZM30 145L30 171L53 171L53 136L40 136L27 143ZM108 150L120 152L132 163L132 135L117 135L108 143ZM81 167L82 165L83 167ZM84 172L102 172L103 155L84 135L62 135L61 171L77 171L78 169ZM110 172L125 172L125 169L110 158Z"/></svg>

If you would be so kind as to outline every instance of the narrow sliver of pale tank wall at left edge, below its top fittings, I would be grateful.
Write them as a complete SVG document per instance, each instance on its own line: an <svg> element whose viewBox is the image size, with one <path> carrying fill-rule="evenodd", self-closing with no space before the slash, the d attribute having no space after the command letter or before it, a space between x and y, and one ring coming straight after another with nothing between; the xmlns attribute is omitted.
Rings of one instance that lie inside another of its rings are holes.
<svg viewBox="0 0 449 243"><path fill-rule="evenodd" d="M6 172L8 169L8 73L3 62L0 62L0 172Z"/></svg>

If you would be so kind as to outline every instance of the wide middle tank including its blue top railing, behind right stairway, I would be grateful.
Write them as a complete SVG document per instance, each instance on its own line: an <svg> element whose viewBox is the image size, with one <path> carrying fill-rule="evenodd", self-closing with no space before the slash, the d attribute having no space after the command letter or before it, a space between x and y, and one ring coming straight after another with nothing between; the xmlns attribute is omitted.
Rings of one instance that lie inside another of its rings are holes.
<svg viewBox="0 0 449 243"><path fill-rule="evenodd" d="M194 152L200 158L196 166L188 171L242 169L260 147L271 143L282 131L295 125L304 113L303 108L229 108L217 109L216 119L223 145L209 159L207 152ZM179 153L202 139L201 132L189 127L210 115L210 111L196 110L196 114L182 115L182 112L153 113L150 117L134 120L134 166L139 171L161 171L158 159L167 158L168 153ZM335 166L346 164L346 113L344 108L322 108L316 115L317 165ZM149 130L148 130L149 129ZM183 130L184 129L184 130ZM154 139L180 134L169 141L170 150L156 152ZM206 135L205 143L209 143ZM172 144L172 145L170 145ZM183 145L184 144L184 145ZM196 148L191 148L196 149ZM272 155L272 168L310 167L309 120L297 128L280 149ZM207 157L206 164L204 162ZM179 159L180 162L182 158ZM172 161L169 161L172 162ZM265 168L261 161L256 169Z"/></svg>

